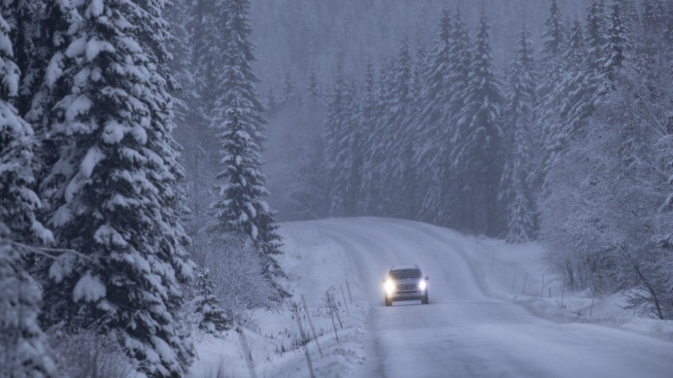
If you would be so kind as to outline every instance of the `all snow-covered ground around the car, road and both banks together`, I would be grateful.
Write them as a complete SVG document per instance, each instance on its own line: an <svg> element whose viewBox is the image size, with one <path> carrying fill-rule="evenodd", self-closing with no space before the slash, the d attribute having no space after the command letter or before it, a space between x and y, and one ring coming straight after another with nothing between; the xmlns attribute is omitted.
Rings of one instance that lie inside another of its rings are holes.
<svg viewBox="0 0 673 378"><path fill-rule="evenodd" d="M670 377L673 371L673 322L634 316L619 306L619 295L594 298L592 309L591 296L543 277L537 244L512 246L379 218L290 222L280 231L302 327L312 333L301 295L318 334L306 345L317 377ZM409 263L430 276L430 305L384 307L381 279L391 265ZM326 292L339 308L336 334ZM230 331L196 340L192 377L308 377L291 310L251 312L244 336ZM243 355L251 356L250 365Z"/></svg>

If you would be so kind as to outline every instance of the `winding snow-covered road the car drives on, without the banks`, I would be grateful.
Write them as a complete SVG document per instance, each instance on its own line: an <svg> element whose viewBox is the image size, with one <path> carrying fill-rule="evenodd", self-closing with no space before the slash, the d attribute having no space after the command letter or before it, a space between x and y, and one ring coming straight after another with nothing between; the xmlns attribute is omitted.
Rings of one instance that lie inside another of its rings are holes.
<svg viewBox="0 0 673 378"><path fill-rule="evenodd" d="M497 300L459 242L461 235L402 220L336 219L320 228L340 245L358 298L372 307L361 377L673 377L673 343L593 324L562 323ZM385 307L391 265L418 264L429 305Z"/></svg>

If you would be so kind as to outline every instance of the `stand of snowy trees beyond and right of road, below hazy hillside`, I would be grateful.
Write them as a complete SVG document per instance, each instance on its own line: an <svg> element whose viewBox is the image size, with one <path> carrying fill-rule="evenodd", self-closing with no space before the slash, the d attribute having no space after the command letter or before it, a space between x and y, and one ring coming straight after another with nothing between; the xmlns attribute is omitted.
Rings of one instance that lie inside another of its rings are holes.
<svg viewBox="0 0 673 378"><path fill-rule="evenodd" d="M673 2L552 0L538 24L496 30L512 34L498 56L492 14L512 10L464 8L322 86L286 73L267 96L270 117L296 123L271 151L273 206L537 239L573 290L637 288L630 306L671 318Z"/></svg>

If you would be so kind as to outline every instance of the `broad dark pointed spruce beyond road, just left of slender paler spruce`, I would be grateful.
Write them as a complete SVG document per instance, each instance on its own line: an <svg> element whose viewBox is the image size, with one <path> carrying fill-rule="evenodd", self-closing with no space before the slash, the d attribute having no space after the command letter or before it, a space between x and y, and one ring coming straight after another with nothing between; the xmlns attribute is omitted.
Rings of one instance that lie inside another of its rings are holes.
<svg viewBox="0 0 673 378"><path fill-rule="evenodd" d="M460 185L458 202L468 208L458 216L470 231L497 235L501 231L497 210L501 167L501 84L494 73L488 44L486 16L479 20L464 107L456 125L453 172Z"/></svg>

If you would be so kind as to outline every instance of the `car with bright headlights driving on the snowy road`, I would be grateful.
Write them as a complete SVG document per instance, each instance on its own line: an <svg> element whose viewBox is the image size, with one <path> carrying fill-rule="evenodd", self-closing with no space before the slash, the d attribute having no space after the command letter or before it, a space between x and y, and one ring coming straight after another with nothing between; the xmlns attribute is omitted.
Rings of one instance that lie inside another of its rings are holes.
<svg viewBox="0 0 673 378"><path fill-rule="evenodd" d="M393 266L383 279L385 305L393 305L394 300L420 300L428 304L429 277L424 277L418 265Z"/></svg>

